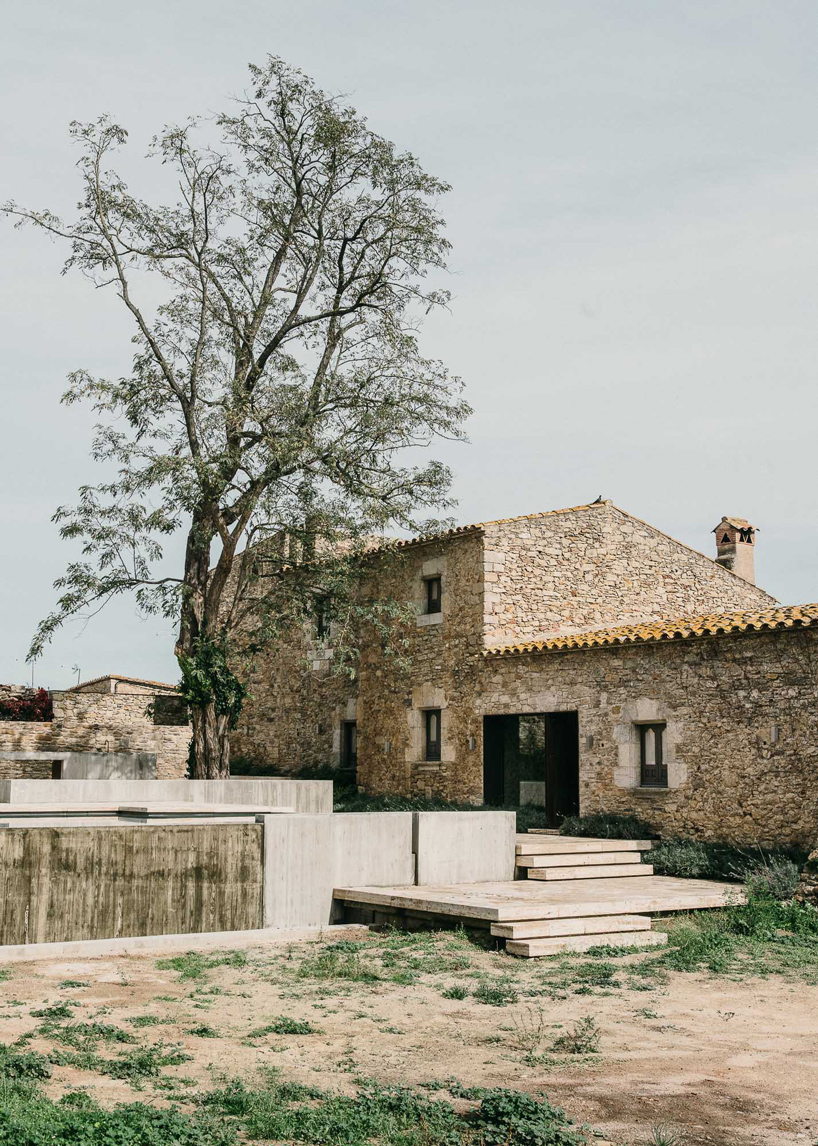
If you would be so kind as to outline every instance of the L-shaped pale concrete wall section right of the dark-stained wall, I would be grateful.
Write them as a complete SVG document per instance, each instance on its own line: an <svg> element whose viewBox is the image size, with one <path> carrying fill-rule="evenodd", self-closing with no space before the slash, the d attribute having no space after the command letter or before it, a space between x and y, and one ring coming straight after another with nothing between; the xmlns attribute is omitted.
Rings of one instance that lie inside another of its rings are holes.
<svg viewBox="0 0 818 1146"><path fill-rule="evenodd" d="M332 920L332 890L415 881L410 811L265 816L265 927Z"/></svg>

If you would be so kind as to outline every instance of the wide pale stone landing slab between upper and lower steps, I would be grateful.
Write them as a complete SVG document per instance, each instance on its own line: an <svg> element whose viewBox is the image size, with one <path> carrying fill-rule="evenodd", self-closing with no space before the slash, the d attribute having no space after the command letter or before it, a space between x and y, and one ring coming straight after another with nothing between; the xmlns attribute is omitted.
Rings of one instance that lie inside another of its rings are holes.
<svg viewBox="0 0 818 1146"><path fill-rule="evenodd" d="M693 911L698 908L722 908L745 900L742 888L734 884L670 876L424 887L336 887L335 897L357 906L385 906L488 923Z"/></svg>

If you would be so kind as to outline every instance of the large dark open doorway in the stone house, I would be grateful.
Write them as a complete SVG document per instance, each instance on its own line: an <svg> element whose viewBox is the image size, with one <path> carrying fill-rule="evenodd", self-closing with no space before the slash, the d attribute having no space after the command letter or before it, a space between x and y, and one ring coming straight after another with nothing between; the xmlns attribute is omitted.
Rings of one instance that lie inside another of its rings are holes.
<svg viewBox="0 0 818 1146"><path fill-rule="evenodd" d="M551 827L579 815L579 713L483 716L482 733L485 803L544 804Z"/></svg>

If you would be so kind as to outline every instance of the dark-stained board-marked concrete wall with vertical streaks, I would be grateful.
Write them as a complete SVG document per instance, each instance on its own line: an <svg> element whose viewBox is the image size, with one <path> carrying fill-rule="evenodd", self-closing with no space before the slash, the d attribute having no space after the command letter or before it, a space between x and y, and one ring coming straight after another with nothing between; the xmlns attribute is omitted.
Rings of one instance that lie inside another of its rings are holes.
<svg viewBox="0 0 818 1146"><path fill-rule="evenodd" d="M0 831L0 944L261 926L262 827Z"/></svg>

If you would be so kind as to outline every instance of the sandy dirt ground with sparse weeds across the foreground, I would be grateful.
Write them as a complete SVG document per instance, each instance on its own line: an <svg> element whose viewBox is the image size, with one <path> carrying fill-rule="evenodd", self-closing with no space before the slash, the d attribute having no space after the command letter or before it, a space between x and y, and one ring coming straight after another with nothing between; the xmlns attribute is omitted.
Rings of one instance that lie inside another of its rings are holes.
<svg viewBox="0 0 818 1146"><path fill-rule="evenodd" d="M325 948L267 945L247 949L244 966L194 960L188 970L184 959L158 967L156 955L13 965L0 982L0 1041L36 1029L32 1010L70 999L80 1004L72 1007L79 1021L120 1025L194 1057L163 1072L176 1080L163 1081L164 1090L143 1083L141 1100L165 1101L168 1088L183 1100L268 1065L288 1080L347 1093L361 1078L442 1094L453 1078L525 1089L548 1094L618 1146L651 1141L660 1124L683 1131L686 1144L818 1141L811 982L689 972L639 978L645 956L520 960L449 932L385 939L351 931L340 944L341 972L310 974L309 960ZM343 978L349 966L353 978ZM356 979L355 967L378 978ZM494 1005L471 994L481 984L501 987ZM282 1015L317 1029L258 1033ZM554 1050L587 1015L598 1028L598 1052ZM151 1018L134 1025L140 1017ZM36 1035L27 1046L48 1052L55 1044ZM137 1097L126 1082L73 1066L54 1068L48 1092L78 1086L105 1104Z"/></svg>

